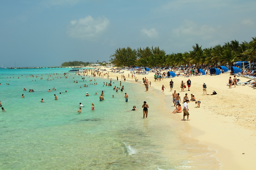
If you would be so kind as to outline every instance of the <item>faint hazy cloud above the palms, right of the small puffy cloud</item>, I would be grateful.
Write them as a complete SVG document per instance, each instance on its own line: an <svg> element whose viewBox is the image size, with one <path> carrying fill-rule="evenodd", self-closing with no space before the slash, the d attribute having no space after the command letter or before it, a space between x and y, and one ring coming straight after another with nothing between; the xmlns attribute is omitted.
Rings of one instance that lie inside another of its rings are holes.
<svg viewBox="0 0 256 170"><path fill-rule="evenodd" d="M197 25L194 21L184 20L179 28L173 29L176 36L199 36L202 39L211 39L216 29L208 25Z"/></svg>

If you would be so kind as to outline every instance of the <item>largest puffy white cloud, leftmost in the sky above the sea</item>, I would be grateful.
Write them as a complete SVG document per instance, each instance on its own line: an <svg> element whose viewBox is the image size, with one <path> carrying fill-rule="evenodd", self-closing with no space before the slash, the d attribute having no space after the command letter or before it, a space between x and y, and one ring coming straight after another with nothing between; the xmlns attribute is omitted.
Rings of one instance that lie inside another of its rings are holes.
<svg viewBox="0 0 256 170"><path fill-rule="evenodd" d="M88 15L79 20L72 20L70 23L67 31L70 37L89 40L101 35L107 29L110 22L106 17L94 19Z"/></svg>

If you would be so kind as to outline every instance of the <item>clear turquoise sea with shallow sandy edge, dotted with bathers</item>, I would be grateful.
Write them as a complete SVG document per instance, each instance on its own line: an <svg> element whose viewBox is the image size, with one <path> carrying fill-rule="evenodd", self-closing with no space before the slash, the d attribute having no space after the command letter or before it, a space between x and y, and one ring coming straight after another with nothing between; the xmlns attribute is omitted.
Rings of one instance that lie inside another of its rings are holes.
<svg viewBox="0 0 256 170"><path fill-rule="evenodd" d="M1 169L218 169L211 157L215 151L180 136L172 120L161 115L163 100L154 98L158 91L146 93L142 85L122 80L124 91L116 92L113 86L120 87L120 81L113 79L112 87L103 87L109 80L94 77L98 85L92 85L93 77L85 76L83 82L69 73L66 79L63 73L68 70L0 68L0 101L6 109L0 112ZM53 87L56 91L48 92ZM102 90L105 100L100 102ZM142 119L145 100L148 119ZM78 114L80 102L84 107ZM137 111L129 111L133 105Z"/></svg>

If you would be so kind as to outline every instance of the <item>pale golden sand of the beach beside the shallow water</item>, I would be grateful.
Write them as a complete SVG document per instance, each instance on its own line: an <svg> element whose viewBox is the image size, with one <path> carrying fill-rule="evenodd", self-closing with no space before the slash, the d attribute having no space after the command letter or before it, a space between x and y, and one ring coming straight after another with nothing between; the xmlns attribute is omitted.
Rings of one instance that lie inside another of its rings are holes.
<svg viewBox="0 0 256 170"><path fill-rule="evenodd" d="M129 71L125 71L126 80L136 83L135 80L128 78ZM112 76L113 75L113 76ZM120 74L119 74L120 75ZM110 74L110 78L115 78L116 74ZM254 160L256 151L256 113L253 108L248 108L248 102L255 104L255 91L249 86L232 86L231 89L226 85L229 74L221 75L203 75L193 77L174 77L165 78L161 81L154 81L154 73L148 75L136 75L139 79L138 83L142 83L142 78L146 77L151 82L149 91L159 90L160 96L166 98L166 110L162 114L174 119L176 122L172 126L176 127L180 133L187 137L197 139L199 143L209 146L211 150L217 150L213 156L221 162L221 169L254 169L251 162ZM231 76L233 78L233 76ZM237 77L241 82L249 79ZM200 100L200 108L195 108L195 102L188 103L190 121L181 121L182 113L172 114L173 102L172 93L170 91L169 82L173 80L173 91L180 93L181 100L185 93L195 95L196 101ZM181 80L187 82L191 80L191 88L185 88L184 92L180 92ZM217 95L203 95L203 83L207 84L207 94L216 91ZM161 87L166 87L162 93ZM251 104L249 104L251 105ZM248 112L249 111L249 112ZM173 122L172 122L173 123Z"/></svg>

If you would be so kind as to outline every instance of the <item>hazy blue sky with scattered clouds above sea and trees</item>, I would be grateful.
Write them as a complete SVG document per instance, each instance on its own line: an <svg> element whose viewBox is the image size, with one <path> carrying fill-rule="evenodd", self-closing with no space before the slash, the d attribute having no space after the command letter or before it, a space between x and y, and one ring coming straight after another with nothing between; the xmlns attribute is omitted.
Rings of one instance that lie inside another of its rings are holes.
<svg viewBox="0 0 256 170"><path fill-rule="evenodd" d="M189 52L256 36L255 0L1 0L0 67L108 62L117 48Z"/></svg>

